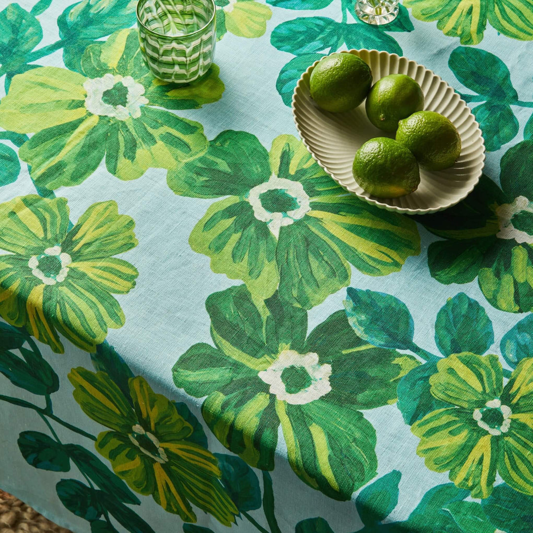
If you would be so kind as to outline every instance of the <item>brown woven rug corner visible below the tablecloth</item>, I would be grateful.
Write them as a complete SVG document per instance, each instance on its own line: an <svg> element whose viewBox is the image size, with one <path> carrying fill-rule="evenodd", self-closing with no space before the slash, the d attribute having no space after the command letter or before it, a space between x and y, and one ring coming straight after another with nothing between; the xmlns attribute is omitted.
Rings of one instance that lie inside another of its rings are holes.
<svg viewBox="0 0 533 533"><path fill-rule="evenodd" d="M0 490L0 533L71 533Z"/></svg>

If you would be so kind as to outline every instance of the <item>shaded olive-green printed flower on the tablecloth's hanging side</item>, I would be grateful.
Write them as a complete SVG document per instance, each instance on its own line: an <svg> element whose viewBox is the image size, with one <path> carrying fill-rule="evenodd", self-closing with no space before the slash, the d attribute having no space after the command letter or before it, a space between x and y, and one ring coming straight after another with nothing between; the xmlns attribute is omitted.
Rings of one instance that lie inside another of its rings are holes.
<svg viewBox="0 0 533 533"><path fill-rule="evenodd" d="M104 372L78 367L68 378L84 413L110 429L98 435L96 450L133 490L185 522L196 522L192 503L231 525L238 511L219 481L217 459L174 403L141 376L128 379L128 395Z"/></svg>

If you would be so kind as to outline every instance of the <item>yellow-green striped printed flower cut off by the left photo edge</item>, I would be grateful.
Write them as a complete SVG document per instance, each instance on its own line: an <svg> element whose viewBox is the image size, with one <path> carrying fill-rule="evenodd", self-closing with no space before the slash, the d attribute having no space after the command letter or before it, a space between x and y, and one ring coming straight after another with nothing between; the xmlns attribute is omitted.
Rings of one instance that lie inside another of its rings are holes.
<svg viewBox="0 0 533 533"><path fill-rule="evenodd" d="M94 350L124 325L111 293L126 294L138 271L114 255L137 245L115 201L90 206L68 231L64 198L20 196L0 204L0 316L63 352L58 333Z"/></svg>

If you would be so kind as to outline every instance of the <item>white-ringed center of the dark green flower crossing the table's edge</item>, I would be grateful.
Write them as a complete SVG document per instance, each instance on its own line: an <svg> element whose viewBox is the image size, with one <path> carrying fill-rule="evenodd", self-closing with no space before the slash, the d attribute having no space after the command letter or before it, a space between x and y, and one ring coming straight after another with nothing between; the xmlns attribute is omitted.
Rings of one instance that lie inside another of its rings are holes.
<svg viewBox="0 0 533 533"><path fill-rule="evenodd" d="M269 368L258 375L270 385L270 394L276 394L278 400L303 405L332 390L329 384L331 373L331 365L320 365L316 353L302 355L295 350L284 350Z"/></svg>

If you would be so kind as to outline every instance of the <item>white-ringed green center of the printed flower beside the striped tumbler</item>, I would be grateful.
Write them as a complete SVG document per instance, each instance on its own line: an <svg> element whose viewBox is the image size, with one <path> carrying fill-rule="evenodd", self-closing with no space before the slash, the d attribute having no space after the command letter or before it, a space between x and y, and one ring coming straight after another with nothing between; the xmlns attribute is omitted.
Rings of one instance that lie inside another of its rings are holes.
<svg viewBox="0 0 533 533"><path fill-rule="evenodd" d="M148 103L144 87L131 76L106 74L88 79L83 84L87 91L85 107L93 115L114 117L118 120L139 118L141 106Z"/></svg>

